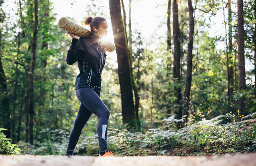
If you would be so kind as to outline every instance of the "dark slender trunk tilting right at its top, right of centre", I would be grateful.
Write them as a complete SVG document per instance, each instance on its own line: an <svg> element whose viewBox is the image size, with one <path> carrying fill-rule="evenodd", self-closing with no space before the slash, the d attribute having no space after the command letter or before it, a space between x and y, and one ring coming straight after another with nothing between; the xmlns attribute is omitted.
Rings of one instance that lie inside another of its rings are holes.
<svg viewBox="0 0 256 166"><path fill-rule="evenodd" d="M186 75L186 85L184 92L184 109L183 115L187 115L185 117L185 122L187 122L188 118L188 109L190 103L190 88L191 88L191 80L192 80L192 51L193 51L193 40L194 40L194 27L195 21L193 17L193 6L191 0L188 0L188 11L189 11L189 37L188 37L188 54L187 54L187 75ZM184 125L183 125L184 126Z"/></svg>

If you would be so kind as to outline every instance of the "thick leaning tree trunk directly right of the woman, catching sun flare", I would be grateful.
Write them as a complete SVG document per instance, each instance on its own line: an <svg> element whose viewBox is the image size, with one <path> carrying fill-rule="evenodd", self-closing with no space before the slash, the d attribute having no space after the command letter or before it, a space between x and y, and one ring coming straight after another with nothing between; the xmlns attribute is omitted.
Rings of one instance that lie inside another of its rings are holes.
<svg viewBox="0 0 256 166"><path fill-rule="evenodd" d="M126 39L126 31L121 15L120 0L109 0L110 18L113 35L116 44L118 62L118 77L121 90L123 123L128 123L128 128L137 130L134 113L132 77L130 73L129 52Z"/></svg>

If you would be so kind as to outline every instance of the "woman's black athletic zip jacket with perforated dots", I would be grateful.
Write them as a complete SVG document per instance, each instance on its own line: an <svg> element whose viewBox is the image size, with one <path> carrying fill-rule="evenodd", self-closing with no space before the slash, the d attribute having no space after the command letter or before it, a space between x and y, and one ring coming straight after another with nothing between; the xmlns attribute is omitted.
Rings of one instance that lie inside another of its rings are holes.
<svg viewBox="0 0 256 166"><path fill-rule="evenodd" d="M98 46L98 41L99 36L93 34L86 38L72 38L66 61L68 65L73 65L76 61L78 64L80 73L75 79L75 90L91 87L94 91L101 92L101 72L107 55L104 54L102 46Z"/></svg>

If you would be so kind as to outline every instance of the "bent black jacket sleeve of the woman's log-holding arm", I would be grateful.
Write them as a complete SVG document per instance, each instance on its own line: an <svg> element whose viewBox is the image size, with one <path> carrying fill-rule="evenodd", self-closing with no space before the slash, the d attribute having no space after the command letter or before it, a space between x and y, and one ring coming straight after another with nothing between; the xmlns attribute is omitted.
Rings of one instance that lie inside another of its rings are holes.
<svg viewBox="0 0 256 166"><path fill-rule="evenodd" d="M73 65L79 58L80 55L84 54L86 51L85 44L82 39L72 38L71 45L68 49L66 62L68 65Z"/></svg>

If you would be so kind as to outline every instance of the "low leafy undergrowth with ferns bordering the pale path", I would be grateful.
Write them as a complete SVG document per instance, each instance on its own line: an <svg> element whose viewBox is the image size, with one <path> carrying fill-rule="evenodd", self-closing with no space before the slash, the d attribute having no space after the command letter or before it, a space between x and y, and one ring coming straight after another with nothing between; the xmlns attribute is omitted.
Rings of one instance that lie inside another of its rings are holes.
<svg viewBox="0 0 256 166"><path fill-rule="evenodd" d="M254 117L254 114L251 115ZM174 116L164 119L166 128L149 129L146 134L130 132L126 124L108 129L108 149L116 156L146 155L214 155L256 151L255 120L232 121L226 115L210 120L196 121L188 118L187 126L175 128ZM232 121L232 122L230 122ZM167 129L170 128L170 129ZM49 132L48 132L49 131ZM19 142L22 153L64 155L68 143L68 132L42 130L34 145ZM82 132L75 147L74 155L99 155L96 132Z"/></svg>

